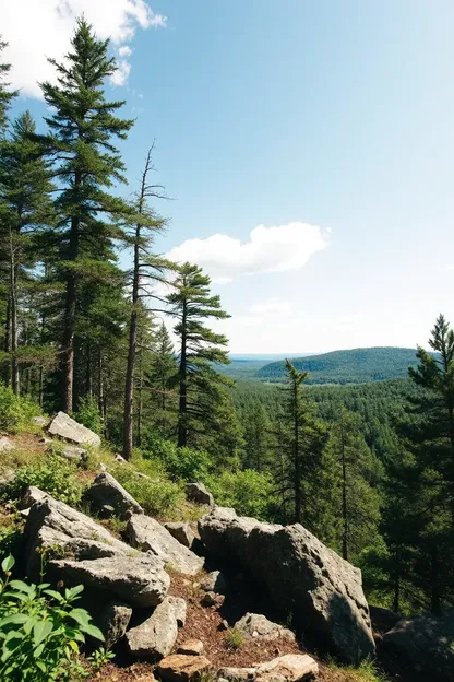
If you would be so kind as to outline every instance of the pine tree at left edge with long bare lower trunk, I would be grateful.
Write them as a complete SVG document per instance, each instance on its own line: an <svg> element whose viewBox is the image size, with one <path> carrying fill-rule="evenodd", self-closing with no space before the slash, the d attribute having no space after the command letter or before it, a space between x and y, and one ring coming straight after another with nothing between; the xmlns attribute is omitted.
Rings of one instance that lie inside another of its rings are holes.
<svg viewBox="0 0 454 682"><path fill-rule="evenodd" d="M52 221L49 173L35 136L35 122L28 111L12 124L11 139L3 141L0 156L0 225L3 254L9 269L9 321L11 385L20 392L20 297L24 282L37 263L37 232ZM27 271L28 269L28 271Z"/></svg>

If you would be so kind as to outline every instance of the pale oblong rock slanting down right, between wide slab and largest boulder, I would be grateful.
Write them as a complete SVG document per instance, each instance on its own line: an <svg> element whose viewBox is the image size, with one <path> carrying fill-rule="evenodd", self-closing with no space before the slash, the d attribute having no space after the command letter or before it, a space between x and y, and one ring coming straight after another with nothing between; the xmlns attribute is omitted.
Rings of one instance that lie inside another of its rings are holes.
<svg viewBox="0 0 454 682"><path fill-rule="evenodd" d="M126 533L132 546L152 552L182 575L194 576L202 569L204 560L183 546L150 516L131 516Z"/></svg>

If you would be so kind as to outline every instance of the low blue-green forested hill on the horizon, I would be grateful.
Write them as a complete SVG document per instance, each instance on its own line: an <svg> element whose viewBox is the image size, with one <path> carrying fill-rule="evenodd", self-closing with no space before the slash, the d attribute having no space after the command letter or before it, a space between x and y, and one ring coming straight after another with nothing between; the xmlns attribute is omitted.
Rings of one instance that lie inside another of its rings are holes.
<svg viewBox="0 0 454 682"><path fill-rule="evenodd" d="M310 384L363 384L406 377L408 366L417 365L415 349L370 348L334 351L291 361L300 372L309 372ZM285 361L270 363L255 373L262 381L282 381Z"/></svg>

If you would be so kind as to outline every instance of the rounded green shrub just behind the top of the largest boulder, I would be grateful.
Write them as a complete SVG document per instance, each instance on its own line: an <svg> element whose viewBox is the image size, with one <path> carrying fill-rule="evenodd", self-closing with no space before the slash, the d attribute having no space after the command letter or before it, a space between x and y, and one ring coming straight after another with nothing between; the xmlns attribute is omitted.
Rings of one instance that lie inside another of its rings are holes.
<svg viewBox="0 0 454 682"><path fill-rule="evenodd" d="M243 516L267 518L267 511L273 504L273 483L267 473L253 469L223 471L216 477L208 477L206 484L216 504L234 507Z"/></svg>

